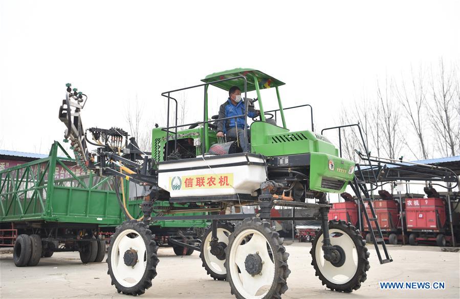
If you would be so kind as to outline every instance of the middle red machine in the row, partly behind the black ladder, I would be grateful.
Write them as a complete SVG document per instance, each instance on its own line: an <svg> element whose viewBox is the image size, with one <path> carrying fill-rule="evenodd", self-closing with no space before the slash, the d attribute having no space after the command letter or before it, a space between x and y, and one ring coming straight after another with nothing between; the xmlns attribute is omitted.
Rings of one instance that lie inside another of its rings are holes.
<svg viewBox="0 0 460 299"><path fill-rule="evenodd" d="M387 240L389 244L396 245L398 244L398 240L402 240L402 236L399 233L401 231L399 203L386 190L379 190L379 195L382 199L374 201L373 207L380 229L382 230L383 239ZM364 206L366 207L367 215L369 218L372 218L368 203L364 203ZM369 233L370 230L367 222L364 221L363 224L363 230L367 232L365 237L366 242L371 243L371 234Z"/></svg>

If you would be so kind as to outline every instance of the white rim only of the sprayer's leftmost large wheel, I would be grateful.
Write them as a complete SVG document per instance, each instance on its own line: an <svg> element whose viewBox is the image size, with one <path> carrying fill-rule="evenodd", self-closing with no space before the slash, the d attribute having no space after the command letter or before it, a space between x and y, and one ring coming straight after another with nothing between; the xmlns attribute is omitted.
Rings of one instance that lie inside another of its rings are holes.
<svg viewBox="0 0 460 299"><path fill-rule="evenodd" d="M130 236L128 236L130 234ZM135 236L135 238L130 238ZM133 267L126 266L123 260L126 250L137 250L138 260ZM112 273L117 282L126 287L133 287L139 283L144 276L147 261L144 261L146 246L144 239L140 236L139 232L134 229L123 230L115 239L111 249L111 266Z"/></svg>

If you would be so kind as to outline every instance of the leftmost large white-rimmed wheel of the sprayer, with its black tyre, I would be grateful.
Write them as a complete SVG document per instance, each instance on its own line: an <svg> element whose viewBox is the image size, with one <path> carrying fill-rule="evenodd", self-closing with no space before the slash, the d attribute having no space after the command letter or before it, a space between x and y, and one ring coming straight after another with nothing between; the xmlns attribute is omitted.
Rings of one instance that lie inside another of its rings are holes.
<svg viewBox="0 0 460 299"><path fill-rule="evenodd" d="M144 222L127 220L110 238L107 274L119 293L141 295L157 276L158 246Z"/></svg>

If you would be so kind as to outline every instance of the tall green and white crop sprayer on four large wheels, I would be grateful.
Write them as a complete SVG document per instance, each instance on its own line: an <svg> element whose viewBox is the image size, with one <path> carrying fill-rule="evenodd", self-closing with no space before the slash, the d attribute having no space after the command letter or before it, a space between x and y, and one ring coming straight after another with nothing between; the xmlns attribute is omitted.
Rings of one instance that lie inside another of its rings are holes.
<svg viewBox="0 0 460 299"><path fill-rule="evenodd" d="M83 170L113 182L116 198L104 206L116 206L128 219L112 235L106 260L117 291L140 295L152 286L159 262L152 227L168 221L205 221L211 225L200 240L176 239L174 244L182 246L184 252L200 251L207 273L215 280L227 280L237 298L280 298L288 289L291 271L289 253L271 226L272 220L319 221L321 228L315 233L310 251L316 275L331 290L359 289L370 267L369 252L361 232L352 223L329 220L331 205L326 194L341 194L351 186L358 204L364 206L371 200L369 192L377 189L380 182L390 180L382 161L371 157L364 143L366 153L361 158L367 168L363 169L359 163L342 158L339 149L323 134L313 132L313 125L312 131L289 131L284 111L309 105L283 108L279 87L284 83L272 76L253 69L234 69L208 75L202 81L193 87L162 93L168 104L167 124L152 130L151 153L141 151L134 138L128 140L128 134L116 127L84 130L81 110L86 96L68 84L59 111L59 119L67 127L65 140L70 141ZM228 92L229 103L233 92L239 91L243 105L230 106L238 108L238 115L210 115L210 87ZM178 124L178 102L173 96L192 88L203 89L202 120ZM261 90L269 88L276 92L278 109L265 111ZM249 92L255 92L256 97L248 98ZM170 124L174 104L174 122ZM249 124L248 111L256 105L259 114ZM225 127L232 120L244 134L235 140L229 134L222 138L219 125ZM327 130L340 132L345 127ZM356 127L360 130L359 125ZM249 144L249 152L242 151L242 143ZM357 171L360 176L355 175ZM448 169L436 169L429 176L433 180L457 181ZM126 206L124 193L120 196L118 192L124 187L121 179L143 187L143 200L137 204L140 213L134 217ZM88 215L94 212L94 201L81 204ZM257 212L230 213L246 206L255 207ZM271 210L279 206L313 212L309 217L271 216ZM50 215L72 210L69 205L59 208L48 202L43 206ZM379 261L392 262L374 207L369 205L369 210L370 215L364 213L364 221L376 227L370 234ZM59 223L65 219L47 220Z"/></svg>

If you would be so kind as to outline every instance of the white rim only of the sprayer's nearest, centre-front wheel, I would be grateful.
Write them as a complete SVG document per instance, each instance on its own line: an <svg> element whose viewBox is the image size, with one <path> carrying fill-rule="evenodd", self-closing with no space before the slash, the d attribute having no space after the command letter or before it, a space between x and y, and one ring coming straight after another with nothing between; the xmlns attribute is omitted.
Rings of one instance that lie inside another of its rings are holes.
<svg viewBox="0 0 460 299"><path fill-rule="evenodd" d="M251 240L240 245L251 234ZM245 298L264 297L275 280L275 264L270 258L268 248L273 252L264 235L255 229L246 229L240 232L230 248L230 254L227 257L229 259L228 270L236 290ZM246 271L245 260L248 254L256 254L257 252L259 252L259 257L263 263L262 271L252 276ZM238 273L238 267L241 273Z"/></svg>

